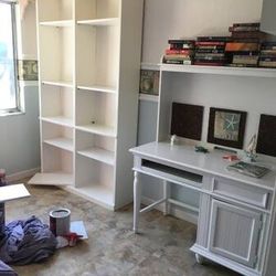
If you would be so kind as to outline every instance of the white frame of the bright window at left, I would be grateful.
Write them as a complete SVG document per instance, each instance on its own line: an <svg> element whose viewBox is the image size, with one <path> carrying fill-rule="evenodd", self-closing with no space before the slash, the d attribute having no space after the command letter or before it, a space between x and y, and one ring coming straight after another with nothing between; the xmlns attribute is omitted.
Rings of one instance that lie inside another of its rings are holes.
<svg viewBox="0 0 276 276"><path fill-rule="evenodd" d="M0 109L0 115L8 115L8 114L21 113L20 87L18 79L18 32L17 32L17 7L15 7L18 2L13 0L0 0L0 3L7 3L11 6L15 107Z"/></svg>

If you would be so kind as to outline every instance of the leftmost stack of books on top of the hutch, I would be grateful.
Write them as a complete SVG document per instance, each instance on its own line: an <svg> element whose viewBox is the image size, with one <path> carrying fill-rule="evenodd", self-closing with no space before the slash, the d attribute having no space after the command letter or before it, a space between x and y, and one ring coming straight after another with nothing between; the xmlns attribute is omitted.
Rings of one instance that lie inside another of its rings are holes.
<svg viewBox="0 0 276 276"><path fill-rule="evenodd" d="M191 65L194 54L194 40L169 40L169 49L162 59L167 64L187 64Z"/></svg>

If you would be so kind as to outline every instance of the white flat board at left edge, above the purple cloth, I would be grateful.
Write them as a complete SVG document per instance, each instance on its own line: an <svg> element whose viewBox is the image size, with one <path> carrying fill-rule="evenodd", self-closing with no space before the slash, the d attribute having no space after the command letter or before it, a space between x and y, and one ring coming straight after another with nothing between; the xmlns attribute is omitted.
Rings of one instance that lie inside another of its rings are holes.
<svg viewBox="0 0 276 276"><path fill-rule="evenodd" d="M0 187L0 202L17 200L30 197L31 194L25 189L24 184L13 184Z"/></svg>

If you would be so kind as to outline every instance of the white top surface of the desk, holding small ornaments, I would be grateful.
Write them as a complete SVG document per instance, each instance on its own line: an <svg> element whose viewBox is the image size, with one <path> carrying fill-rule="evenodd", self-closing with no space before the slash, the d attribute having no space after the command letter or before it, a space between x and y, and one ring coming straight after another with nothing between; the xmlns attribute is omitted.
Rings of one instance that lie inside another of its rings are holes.
<svg viewBox="0 0 276 276"><path fill-rule="evenodd" d="M173 145L169 142L149 142L130 149L130 152L144 158L151 158L173 167L180 166L187 169L198 171L199 173L211 173L219 177L224 177L231 180L241 181L247 184L253 184L268 190L274 190L276 184L276 163L259 159L256 164L263 164L270 169L264 177L257 179L247 177L238 172L229 171L226 167L230 163L222 157L225 151L214 150L210 153L195 152L194 147L187 145Z"/></svg>

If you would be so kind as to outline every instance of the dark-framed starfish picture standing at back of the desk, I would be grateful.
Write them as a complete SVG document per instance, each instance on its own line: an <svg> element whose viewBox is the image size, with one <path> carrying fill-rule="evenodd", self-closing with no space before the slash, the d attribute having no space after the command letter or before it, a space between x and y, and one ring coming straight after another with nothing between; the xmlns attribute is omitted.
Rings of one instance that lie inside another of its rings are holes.
<svg viewBox="0 0 276 276"><path fill-rule="evenodd" d="M243 148L246 113L210 108L208 141L231 148Z"/></svg>

